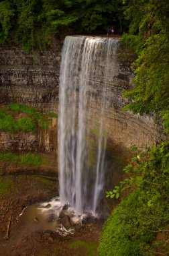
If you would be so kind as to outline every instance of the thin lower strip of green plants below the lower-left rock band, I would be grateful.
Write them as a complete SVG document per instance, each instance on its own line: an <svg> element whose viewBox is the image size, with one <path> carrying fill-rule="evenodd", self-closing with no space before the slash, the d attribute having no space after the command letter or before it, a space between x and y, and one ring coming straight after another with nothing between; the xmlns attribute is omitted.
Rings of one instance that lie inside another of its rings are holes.
<svg viewBox="0 0 169 256"><path fill-rule="evenodd" d="M42 164L40 156L36 156L32 153L27 153L25 154L25 156L17 156L13 153L0 153L0 160L6 162L16 162L17 164L24 164L30 166L40 166L40 164Z"/></svg>

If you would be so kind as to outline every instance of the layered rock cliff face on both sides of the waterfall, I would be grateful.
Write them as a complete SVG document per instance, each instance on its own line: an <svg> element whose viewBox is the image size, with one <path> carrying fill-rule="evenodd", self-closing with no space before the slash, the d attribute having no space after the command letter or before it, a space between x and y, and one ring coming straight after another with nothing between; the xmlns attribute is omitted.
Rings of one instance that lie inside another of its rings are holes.
<svg viewBox="0 0 169 256"><path fill-rule="evenodd" d="M27 54L18 46L0 49L0 104L20 102L34 106L44 112L58 113L58 84L62 46L58 43L51 51L34 51ZM123 58L121 58L123 53ZM120 54L120 55L119 55ZM154 124L152 117L133 115L120 110L126 100L121 96L123 90L129 89L132 77L130 55L126 49L119 47L115 65L115 79L105 84L109 91L109 107L104 122L108 125L109 138L117 144L144 148L162 140L160 128ZM99 92L104 73L96 74L95 88L90 90L91 119L99 121L101 102ZM90 120L88 121L90 125ZM93 127L91 127L93 128ZM36 135L0 133L0 151L21 150L32 152L49 152L56 154L57 132L49 129Z"/></svg>

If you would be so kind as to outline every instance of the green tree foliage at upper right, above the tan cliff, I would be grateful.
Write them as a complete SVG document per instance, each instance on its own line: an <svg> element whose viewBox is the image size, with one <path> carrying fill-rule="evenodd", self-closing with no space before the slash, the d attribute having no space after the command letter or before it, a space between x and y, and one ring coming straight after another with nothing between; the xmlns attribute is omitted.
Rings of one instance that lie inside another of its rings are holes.
<svg viewBox="0 0 169 256"><path fill-rule="evenodd" d="M129 34L124 34L121 42L131 47L138 57L132 65L133 90L123 93L131 102L123 110L162 115L168 132L169 31L166 24L169 24L169 5L166 1L127 2L125 15L131 23Z"/></svg>

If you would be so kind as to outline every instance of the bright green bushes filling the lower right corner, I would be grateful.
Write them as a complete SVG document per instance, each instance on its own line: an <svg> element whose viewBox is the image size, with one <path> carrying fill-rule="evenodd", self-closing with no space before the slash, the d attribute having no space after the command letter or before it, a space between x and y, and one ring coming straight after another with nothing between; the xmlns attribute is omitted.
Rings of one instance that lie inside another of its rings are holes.
<svg viewBox="0 0 169 256"><path fill-rule="evenodd" d="M99 255L156 254L156 234L169 223L169 216L166 214L169 210L168 152L169 142L162 143L157 148L152 148L147 159L146 154L144 158L136 157L136 164L127 166L126 170L131 169L135 173L133 169L137 165L134 182L129 181L133 191L122 199L105 223ZM165 241L159 247L160 251L165 252Z"/></svg>

